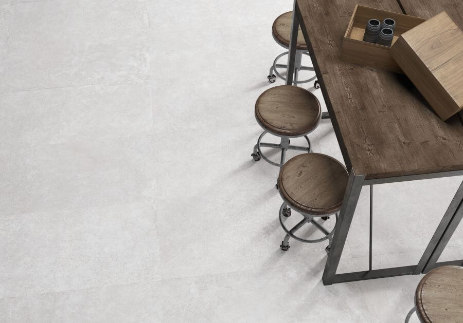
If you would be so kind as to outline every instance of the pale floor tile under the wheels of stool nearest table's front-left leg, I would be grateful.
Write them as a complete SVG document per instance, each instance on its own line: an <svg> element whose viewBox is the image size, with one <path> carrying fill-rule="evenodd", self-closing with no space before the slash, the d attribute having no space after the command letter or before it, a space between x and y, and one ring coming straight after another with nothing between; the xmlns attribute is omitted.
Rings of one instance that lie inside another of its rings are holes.
<svg viewBox="0 0 463 323"><path fill-rule="evenodd" d="M231 193L220 185L191 198L159 201L163 279L289 264L313 265L314 261L323 268L327 241L308 244L290 239L290 250L280 250L285 236L278 220L281 203L272 186L264 192L237 189ZM301 219L293 212L284 223L291 229ZM329 231L334 227L334 217L319 222ZM308 224L298 235L323 237ZM343 258L348 257L347 246Z"/></svg>

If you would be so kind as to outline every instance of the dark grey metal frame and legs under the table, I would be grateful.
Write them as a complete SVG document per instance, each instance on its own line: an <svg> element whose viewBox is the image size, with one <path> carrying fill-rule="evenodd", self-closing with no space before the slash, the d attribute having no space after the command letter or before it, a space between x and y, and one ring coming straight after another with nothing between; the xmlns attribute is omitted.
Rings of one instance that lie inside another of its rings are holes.
<svg viewBox="0 0 463 323"><path fill-rule="evenodd" d="M293 20L291 24L291 34L290 34L290 47L288 55L288 74L286 78L286 84L291 85L293 81L293 71L295 64L295 53L296 53L296 42L293 42L293 39L297 38L299 21L302 21L302 17L297 6L297 0L294 0L293 6ZM301 26L302 34L309 49L310 56L313 60L313 66L317 75L320 75L320 69L316 64L316 58L313 52L313 48L310 43L310 39L307 35L307 30L305 26ZM327 96L323 79L318 80L320 87L322 88L323 96L327 103L329 98ZM328 98L328 100L327 100ZM328 112L330 115L334 114L330 104L327 104ZM338 134L336 134L338 135ZM338 137L338 136L337 136ZM339 138L339 137L338 137ZM344 152L343 152L344 153ZM461 182L455 196L453 197L449 207L447 208L446 213L442 217L437 229L431 238L428 246L426 247L423 255L421 256L418 264L416 265L407 265L402 267L392 267L384 269L372 269L372 193L374 184L384 184L384 183L395 183L403 181L413 181L421 179L431 179L431 178L440 178L440 177L450 177L450 176L460 176L463 175L463 170L454 170L451 172L441 172L441 173L430 173L430 174L419 174L419 175L410 175L410 176L399 176L399 177L389 177L389 178L380 178L380 179L365 179L365 175L358 175L354 173L351 165L348 165L350 168L349 181L347 183L346 192L344 195L344 201L341 206L339 221L336 224L333 240L331 243L331 249L328 254L328 258L325 264L325 271L323 273L323 284L330 285L333 283L347 282L347 281L357 281L365 279L374 279L374 278L383 278L383 277L393 277L401 275L418 275L429 272L430 270L439 267L441 265L463 265L463 260L454 260L454 261L443 261L437 262L440 255L442 254L444 248L455 232L458 224L463 218L463 182ZM349 232L350 223L359 200L360 191L362 186L370 186L370 241L369 241L369 270L336 274L339 261L341 259L341 254L344 249L344 244L346 242L347 233Z"/></svg>

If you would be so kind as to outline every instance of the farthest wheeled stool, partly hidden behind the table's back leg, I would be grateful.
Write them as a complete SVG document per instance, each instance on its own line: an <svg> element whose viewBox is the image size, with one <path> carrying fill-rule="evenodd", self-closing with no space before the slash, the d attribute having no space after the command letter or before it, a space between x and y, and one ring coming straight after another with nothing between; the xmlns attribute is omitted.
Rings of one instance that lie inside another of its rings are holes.
<svg viewBox="0 0 463 323"><path fill-rule="evenodd" d="M272 35L273 39L275 42L277 42L280 46L288 49L289 44L290 44L290 33L291 33L291 21L293 18L293 12L286 12L283 13L282 15L278 16L275 21L273 22L272 26ZM276 59L273 61L273 65L270 67L270 72L269 76L267 77L269 79L270 83L274 83L276 80L276 76L278 76L280 79L283 79L286 81L286 78L283 77L277 70L277 68L283 68L286 70L288 68L287 64L278 64L278 60L282 58L283 56L288 55L288 51L279 54ZM299 33L297 34L297 45L296 45L296 62L295 62L295 68L294 68L294 81L293 84L301 84L301 83L307 83L310 81L313 81L317 78L316 75L314 75L312 78L307 79L307 80L302 80L298 81L298 73L299 71L305 70L305 71L313 71L313 67L308 67L308 66L302 66L302 55L307 55L310 57L309 53L307 52L307 45L306 41L304 40L304 35L302 35L302 31L299 28ZM276 75L275 75L276 74ZM315 80L313 86L315 88L319 88L320 85L318 81Z"/></svg>

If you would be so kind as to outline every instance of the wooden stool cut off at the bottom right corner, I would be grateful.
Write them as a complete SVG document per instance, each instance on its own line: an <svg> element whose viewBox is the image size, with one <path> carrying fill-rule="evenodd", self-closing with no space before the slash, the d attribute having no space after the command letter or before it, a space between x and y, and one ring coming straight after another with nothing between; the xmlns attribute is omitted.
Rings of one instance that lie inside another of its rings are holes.
<svg viewBox="0 0 463 323"><path fill-rule="evenodd" d="M463 322L463 267L438 267L424 275L405 323L415 311L420 322Z"/></svg>

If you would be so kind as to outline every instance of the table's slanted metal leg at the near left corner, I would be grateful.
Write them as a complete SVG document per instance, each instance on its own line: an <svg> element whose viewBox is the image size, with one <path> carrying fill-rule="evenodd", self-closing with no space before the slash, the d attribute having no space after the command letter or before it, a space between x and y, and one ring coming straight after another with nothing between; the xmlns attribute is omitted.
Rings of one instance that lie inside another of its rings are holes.
<svg viewBox="0 0 463 323"><path fill-rule="evenodd" d="M346 193L344 194L343 205L339 215L339 220L334 230L333 240L331 241L330 252L323 272L323 284L330 285L334 282L336 269L341 259L341 254L349 232L350 223L359 200L362 184L365 175L355 175L353 169L350 171L349 181L347 182Z"/></svg>

